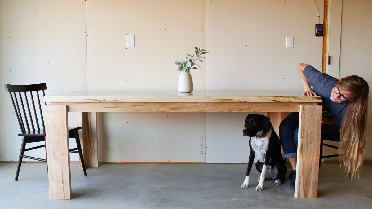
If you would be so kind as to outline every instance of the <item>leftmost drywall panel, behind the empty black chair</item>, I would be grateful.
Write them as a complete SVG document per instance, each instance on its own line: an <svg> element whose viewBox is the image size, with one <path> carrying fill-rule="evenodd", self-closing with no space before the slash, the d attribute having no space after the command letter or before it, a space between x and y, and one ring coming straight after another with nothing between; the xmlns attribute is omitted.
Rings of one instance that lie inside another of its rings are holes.
<svg viewBox="0 0 372 209"><path fill-rule="evenodd" d="M82 73L86 71L85 3L1 0L0 83L47 83L46 95L82 90ZM18 161L20 128L9 93L2 88L0 161ZM76 117L69 118L74 125ZM45 158L45 149L28 154ZM72 154L71 160L78 161L78 156Z"/></svg>

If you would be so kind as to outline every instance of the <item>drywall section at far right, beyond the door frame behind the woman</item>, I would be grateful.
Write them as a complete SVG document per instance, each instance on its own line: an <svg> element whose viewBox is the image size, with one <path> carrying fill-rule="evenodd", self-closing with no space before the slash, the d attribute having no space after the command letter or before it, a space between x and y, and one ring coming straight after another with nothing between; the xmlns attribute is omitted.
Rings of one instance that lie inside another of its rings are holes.
<svg viewBox="0 0 372 209"><path fill-rule="evenodd" d="M343 0L341 22L340 78L348 75L363 77L372 86L372 1ZM369 93L368 112L372 111ZM372 160L372 116L368 115L368 140L365 160Z"/></svg>

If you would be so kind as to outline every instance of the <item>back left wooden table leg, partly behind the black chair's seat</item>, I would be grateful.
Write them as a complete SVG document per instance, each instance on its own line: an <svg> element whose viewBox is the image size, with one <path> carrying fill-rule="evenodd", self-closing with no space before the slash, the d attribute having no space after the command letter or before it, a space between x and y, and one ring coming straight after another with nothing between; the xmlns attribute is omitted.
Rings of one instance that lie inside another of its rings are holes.
<svg viewBox="0 0 372 209"><path fill-rule="evenodd" d="M84 163L86 167L98 167L98 143L97 143L97 119L96 113L81 113L81 127L83 128L80 138L83 149ZM80 164L81 167L81 164ZM82 168L81 168L82 169Z"/></svg>

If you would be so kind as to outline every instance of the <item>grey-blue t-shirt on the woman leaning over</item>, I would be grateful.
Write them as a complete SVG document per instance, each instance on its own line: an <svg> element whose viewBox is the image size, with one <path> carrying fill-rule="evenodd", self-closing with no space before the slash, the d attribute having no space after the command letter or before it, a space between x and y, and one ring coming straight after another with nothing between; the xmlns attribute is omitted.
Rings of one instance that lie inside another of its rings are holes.
<svg viewBox="0 0 372 209"><path fill-rule="evenodd" d="M323 115L333 115L333 121L337 126L341 126L346 110L346 102L336 103L331 100L333 87L336 85L337 78L326 73L321 73L311 65L304 69L304 75L312 86L312 90L322 97Z"/></svg>

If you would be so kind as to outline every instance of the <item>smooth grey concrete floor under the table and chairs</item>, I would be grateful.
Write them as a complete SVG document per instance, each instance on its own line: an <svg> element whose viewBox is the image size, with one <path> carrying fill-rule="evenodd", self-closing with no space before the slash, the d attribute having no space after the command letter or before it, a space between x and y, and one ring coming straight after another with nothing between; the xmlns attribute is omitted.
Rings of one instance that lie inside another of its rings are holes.
<svg viewBox="0 0 372 209"><path fill-rule="evenodd" d="M287 179L266 180L256 192L259 173L241 189L247 164L100 164L88 176L71 163L71 200L49 200L45 163L0 163L0 208L371 208L372 163L359 180L344 177L339 163L322 163L318 198L296 199ZM288 173L287 175L288 176Z"/></svg>

